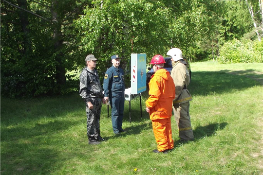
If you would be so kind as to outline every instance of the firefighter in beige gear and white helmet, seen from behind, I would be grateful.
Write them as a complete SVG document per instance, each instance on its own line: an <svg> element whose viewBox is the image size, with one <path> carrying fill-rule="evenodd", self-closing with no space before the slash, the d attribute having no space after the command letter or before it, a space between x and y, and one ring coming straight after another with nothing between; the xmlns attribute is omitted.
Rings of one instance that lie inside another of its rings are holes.
<svg viewBox="0 0 263 175"><path fill-rule="evenodd" d="M192 96L188 90L190 83L190 74L187 69L187 63L183 59L182 51L178 48L172 48L167 55L172 57L173 68L171 77L175 84L175 99L173 101L173 114L179 129L179 137L181 141L193 140L193 130L189 115L189 101Z"/></svg>

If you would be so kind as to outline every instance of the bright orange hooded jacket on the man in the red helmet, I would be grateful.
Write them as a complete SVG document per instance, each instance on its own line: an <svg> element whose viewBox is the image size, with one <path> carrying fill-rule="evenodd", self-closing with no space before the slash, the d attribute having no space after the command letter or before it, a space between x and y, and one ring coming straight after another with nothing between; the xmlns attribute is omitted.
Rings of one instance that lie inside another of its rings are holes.
<svg viewBox="0 0 263 175"><path fill-rule="evenodd" d="M150 120L171 117L175 86L169 71L165 69L157 70L151 76L149 88L150 97L145 104L150 109Z"/></svg>

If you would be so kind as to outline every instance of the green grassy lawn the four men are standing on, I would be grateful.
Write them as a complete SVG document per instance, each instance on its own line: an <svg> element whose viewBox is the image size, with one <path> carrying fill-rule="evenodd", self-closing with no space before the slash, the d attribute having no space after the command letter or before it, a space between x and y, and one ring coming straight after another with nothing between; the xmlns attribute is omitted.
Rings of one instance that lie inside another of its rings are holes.
<svg viewBox="0 0 263 175"><path fill-rule="evenodd" d="M125 102L115 136L107 107L106 140L89 145L84 101L78 94L40 99L1 98L1 175L262 175L263 64L191 63L190 115L195 140L154 154L156 142L142 96ZM111 111L111 109L110 109ZM137 169L135 171L134 169Z"/></svg>

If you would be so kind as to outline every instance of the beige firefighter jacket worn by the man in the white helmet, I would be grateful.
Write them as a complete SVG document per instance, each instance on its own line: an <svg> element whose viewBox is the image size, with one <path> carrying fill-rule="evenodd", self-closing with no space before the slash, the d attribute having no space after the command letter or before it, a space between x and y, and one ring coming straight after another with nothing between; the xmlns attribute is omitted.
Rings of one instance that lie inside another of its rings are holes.
<svg viewBox="0 0 263 175"><path fill-rule="evenodd" d="M173 104L178 105L191 101L192 96L187 89L190 83L190 74L186 65L181 63L180 60L173 66L171 70L171 77L175 84L175 99Z"/></svg>

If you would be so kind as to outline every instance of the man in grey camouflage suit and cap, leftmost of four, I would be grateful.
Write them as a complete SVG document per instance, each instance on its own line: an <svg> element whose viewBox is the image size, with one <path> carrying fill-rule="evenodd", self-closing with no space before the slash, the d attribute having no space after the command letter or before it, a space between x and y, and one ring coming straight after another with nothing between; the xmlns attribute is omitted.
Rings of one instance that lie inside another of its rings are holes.
<svg viewBox="0 0 263 175"><path fill-rule="evenodd" d="M85 100L87 114L87 135L89 144L99 144L104 141L100 136L99 120L101 102L105 104L104 94L100 85L96 67L96 58L89 54L86 59L86 67L80 73L79 95Z"/></svg>

